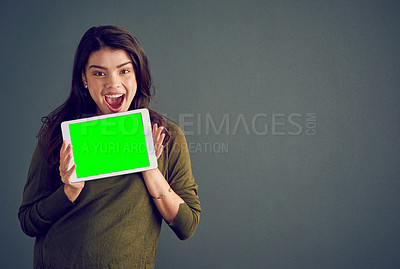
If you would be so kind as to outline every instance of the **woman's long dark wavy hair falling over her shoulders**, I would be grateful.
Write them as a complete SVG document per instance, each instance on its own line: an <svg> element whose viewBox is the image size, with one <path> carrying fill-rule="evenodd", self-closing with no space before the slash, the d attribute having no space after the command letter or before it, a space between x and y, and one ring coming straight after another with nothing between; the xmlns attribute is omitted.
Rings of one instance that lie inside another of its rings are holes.
<svg viewBox="0 0 400 269"><path fill-rule="evenodd" d="M137 39L120 26L92 27L83 35L76 50L71 92L68 99L47 117L42 118L43 125L38 134L39 144L44 149L42 153L54 173L57 173L60 161L61 122L96 113L96 103L91 98L89 91L84 88L82 72L85 72L90 54L103 48L122 49L129 54L137 81L137 91L129 110L147 108L152 124L157 123L159 126L165 127L165 143L170 138L166 129L166 119L149 107L153 89L152 81L146 54Z"/></svg>

